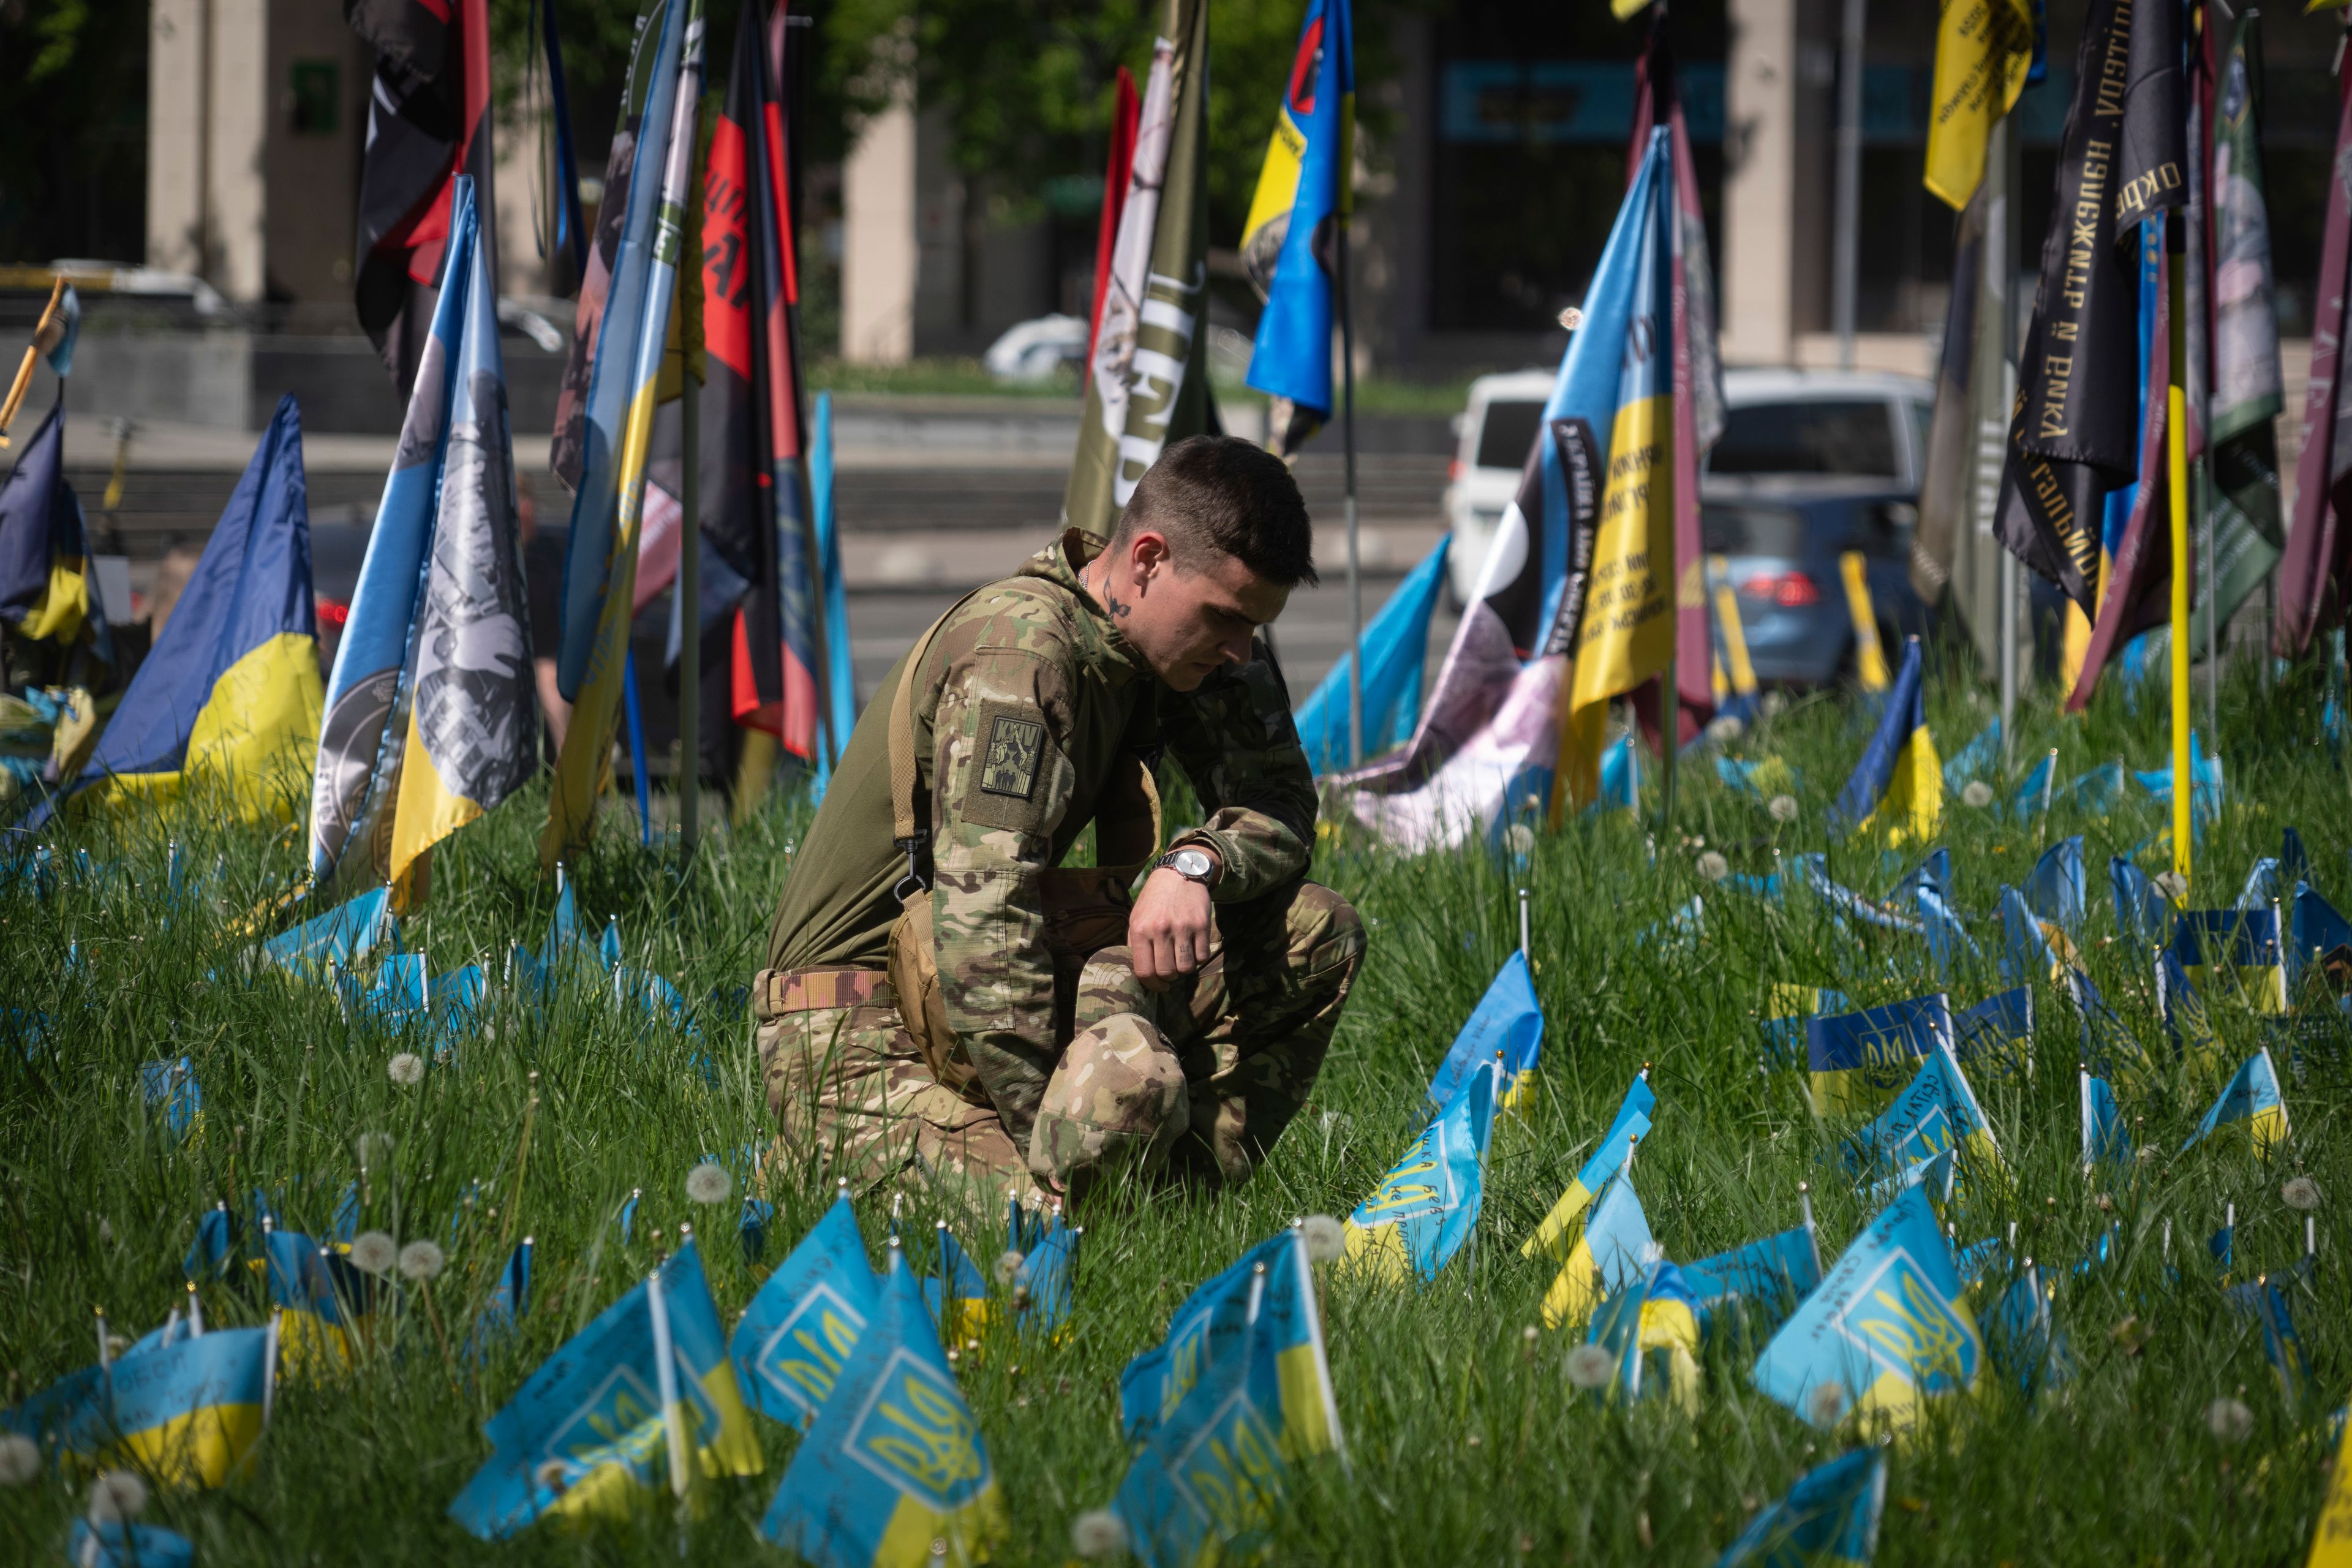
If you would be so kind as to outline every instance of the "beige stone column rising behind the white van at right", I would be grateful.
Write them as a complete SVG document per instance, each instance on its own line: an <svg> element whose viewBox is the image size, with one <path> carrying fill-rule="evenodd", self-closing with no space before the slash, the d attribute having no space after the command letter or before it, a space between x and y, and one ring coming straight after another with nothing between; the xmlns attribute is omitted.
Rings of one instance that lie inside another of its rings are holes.
<svg viewBox="0 0 2352 1568"><path fill-rule="evenodd" d="M1729 5L1722 350L1731 364L1788 364L1797 292L1797 0Z"/></svg>

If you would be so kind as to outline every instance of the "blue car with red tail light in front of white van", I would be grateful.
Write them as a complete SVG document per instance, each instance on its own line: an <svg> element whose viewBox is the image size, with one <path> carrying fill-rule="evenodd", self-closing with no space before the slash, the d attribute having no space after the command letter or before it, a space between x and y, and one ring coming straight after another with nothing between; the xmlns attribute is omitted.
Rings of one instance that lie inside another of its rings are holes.
<svg viewBox="0 0 2352 1568"><path fill-rule="evenodd" d="M1886 663L1903 637L1926 635L1931 611L1910 585L1912 529L1919 505L1910 489L1832 487L1813 480L1750 487L1738 498L1708 498L1698 512L1708 545L1708 590L1731 585L1757 682L1823 686L1856 670L1853 609L1842 557L1863 557L1870 609Z"/></svg>

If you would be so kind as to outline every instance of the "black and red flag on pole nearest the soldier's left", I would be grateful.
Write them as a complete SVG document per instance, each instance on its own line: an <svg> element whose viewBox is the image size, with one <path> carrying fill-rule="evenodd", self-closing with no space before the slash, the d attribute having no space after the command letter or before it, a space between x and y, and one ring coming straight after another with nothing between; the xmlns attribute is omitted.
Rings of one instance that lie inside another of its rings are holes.
<svg viewBox="0 0 2352 1568"><path fill-rule="evenodd" d="M779 7L781 14L781 7ZM802 468L783 101L757 0L736 24L727 108L703 174L701 527L748 583L734 618L734 719L816 757L816 529Z"/></svg>

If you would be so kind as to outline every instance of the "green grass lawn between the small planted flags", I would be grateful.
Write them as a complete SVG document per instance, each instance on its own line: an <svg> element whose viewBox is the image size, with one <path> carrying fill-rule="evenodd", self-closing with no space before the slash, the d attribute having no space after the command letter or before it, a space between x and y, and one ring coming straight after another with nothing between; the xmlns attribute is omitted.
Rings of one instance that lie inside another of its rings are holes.
<svg viewBox="0 0 2352 1568"><path fill-rule="evenodd" d="M2225 691L2220 755L2230 806L2206 835L2194 903L2234 900L2279 830L2300 825L2314 882L2352 903L2352 813L2338 759L2310 741L2317 689L2258 696L2251 672ZM2164 703L2131 712L2105 696L2084 722L2053 717L2034 693L2023 715L2018 771L2044 748L2060 750L2060 778L2122 755L2164 762ZM1955 752L1990 717L1983 696L1938 679L1931 726ZM1065 1561L1070 1516L1117 1488L1117 1373L1152 1345L1178 1300L1254 1239L1301 1213L1343 1215L1402 1152L1423 1086L1496 966L1517 940L1515 886L1534 891L1536 987L1550 1020L1545 1100L1531 1147L1498 1157L1486 1178L1475 1244L1428 1288L1383 1291L1327 1274L1331 1371L1352 1472L1319 1460L1294 1474L1277 1526L1284 1561L1519 1563L1663 1561L1708 1563L1748 1514L1799 1472L1837 1450L1780 1406L1748 1389L1752 1347L1708 1347L1703 1408L1663 1403L1602 1408L1573 1396L1562 1361L1571 1338L1524 1338L1538 1321L1550 1269L1524 1262L1529 1234L1606 1126L1625 1081L1653 1065L1661 1110L1644 1143L1637 1185L1658 1241L1672 1258L1712 1253L1797 1220L1797 1182L1811 1182L1825 1260L1867 1218L1832 1166L1832 1133L1799 1100L1795 1077L1757 1067L1755 1013L1773 980L1837 983L1858 1004L1929 990L1917 945L1865 933L1849 943L1802 903L1773 910L1710 889L1696 872L1698 839L1738 870L1769 870L1773 851L1828 849L1835 875L1884 889L1912 856L1882 858L1830 844L1820 811L1863 745L1860 719L1837 696L1795 703L1738 743L1773 752L1802 773L1804 816L1776 825L1757 802L1724 790L1712 769L1679 783L1677 832L1658 839L1628 820L1576 823L1538 842L1522 877L1482 851L1404 860L1348 832L1317 856L1317 877L1357 900L1371 952L1348 1004L1310 1110L1242 1192L1211 1201L1183 1192L1115 1192L1084 1218L1073 1333L1063 1345L1002 1342L967 1359L962 1380L1014 1516L1004 1561ZM1651 769L1651 811L1656 769ZM485 957L496 973L508 940L536 945L553 889L536 877L532 842L543 797L527 795L445 846L433 903L409 922L435 969ZM1181 820L1181 818L1178 818ZM2060 809L2027 827L1952 802L1957 900L1990 912L2002 882L2023 879L2060 832L2089 837L2091 919L2086 961L2126 1025L2161 1041L2145 987L2145 954L2112 938L2105 860L2161 827L2133 802L2110 820ZM682 1222L703 1220L684 1199L687 1168L708 1150L734 1150L767 1128L750 1027L731 1001L760 966L769 912L807 806L779 799L750 825L717 835L689 877L635 849L633 823L614 809L576 867L581 912L621 917L630 959L699 999L701 1039L640 1027L595 990L569 992L546 1018L492 1006L480 1037L421 1086L386 1074L383 1039L343 1023L322 987L273 978L245 983L245 938L209 903L172 907L160 896L165 839L176 835L198 867L221 856L207 896L240 912L296 870L296 835L223 830L207 816L139 823L92 851L134 886L92 889L61 879L45 903L0 893L0 1006L49 1018L47 1044L5 1053L0 1070L0 1349L7 1399L21 1399L92 1359L92 1307L127 1333L162 1321L183 1298L179 1260L200 1208L242 1206L254 1187L282 1190L287 1220L325 1227L336 1194L358 1175L353 1145L390 1133L388 1171L374 1171L367 1227L400 1239L447 1241L449 1272L435 1286L445 1324L470 1321L503 1260L503 1241L539 1241L536 1300L517 1340L470 1380L454 1380L421 1312L379 1340L339 1382L285 1387L247 1476L216 1493L160 1497L148 1519L198 1544L198 1561L226 1563L623 1563L677 1561L666 1509L635 1528L588 1537L539 1530L480 1544L445 1509L487 1453L482 1422L569 1333L642 1276ZM2154 870L2154 851L2143 851ZM1651 926L1705 896L1705 938L1668 943ZM1980 931L1987 964L1997 926ZM82 964L66 966L68 943ZM1990 969L1955 978L1955 1001L1997 987ZM2199 1150L2143 1161L2114 1208L2086 1187L2077 1154L2074 1020L2037 985L2042 1032L2030 1081L1980 1079L1978 1093L2013 1171L2013 1192L1966 1215L1962 1239L2018 1222L2020 1251L2072 1262L2100 1227L2122 1222L2114 1265L2063 1279L2056 1319L2079 1375L2025 1403L1987 1375L1978 1396L1936 1413L1919 1439L1893 1450L1882 1563L2288 1563L2303 1561L2333 1443L2326 1415L2352 1375L2352 1314L2343 1309L2340 1258L2352 1234L2352 1145L2343 1121L2345 1032L2317 1027L2288 1070L2293 1150L2258 1166L2237 1150ZM2253 1048L2260 1025L2218 1009L2234 1046ZM492 1034L494 1030L494 1034ZM691 1065L706 1051L708 1084ZM200 1135L172 1143L141 1107L139 1065L188 1056L205 1091ZM2161 1056L2161 1053L2159 1053ZM517 1143L536 1093L520 1201ZM2133 1138L2171 1152L2218 1088L2213 1072L2164 1065L2126 1100ZM2303 1168L2326 1194L2319 1208L2319 1288L2296 1295L2314 1366L2312 1392L2288 1406L2263 1359L2258 1333L2225 1312L2220 1288L2192 1262L2220 1222L2239 1213L2239 1260L2281 1267L2303 1246L2300 1215L2279 1182ZM480 1182L468 1208L466 1194ZM612 1215L644 1190L635 1237L621 1244ZM769 1265L814 1220L828 1182L776 1192ZM887 1201L861 1206L880 1244ZM915 1197L917 1234L934 1211ZM2166 1279L2159 1237L2173 1220L2178 1284ZM764 1269L748 1267L731 1225L706 1229L720 1307L734 1314ZM976 1255L1002 1241L969 1234ZM261 1305L228 1286L207 1288L207 1319L254 1324ZM2138 1354L2112 1328L2138 1314L2152 1338ZM461 1328L452 1328L461 1333ZM2218 1443L2204 1420L2218 1396L2244 1399L2256 1429ZM793 1436L760 1422L767 1472L713 1488L694 1526L706 1561L783 1561L757 1540L757 1519L793 1450ZM0 1490L0 1540L9 1561L56 1561L85 1486L54 1469Z"/></svg>

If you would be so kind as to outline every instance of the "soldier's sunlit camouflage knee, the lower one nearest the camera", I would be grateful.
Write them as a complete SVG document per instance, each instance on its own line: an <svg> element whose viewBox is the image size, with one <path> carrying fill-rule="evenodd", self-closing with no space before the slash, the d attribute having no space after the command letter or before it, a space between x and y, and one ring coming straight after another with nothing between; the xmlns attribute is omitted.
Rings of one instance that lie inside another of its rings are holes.
<svg viewBox="0 0 2352 1568"><path fill-rule="evenodd" d="M1145 1018L1120 1013L1077 1034L1047 1079L1028 1166L1068 1190L1080 1173L1155 1171L1190 1126L1183 1065Z"/></svg>

